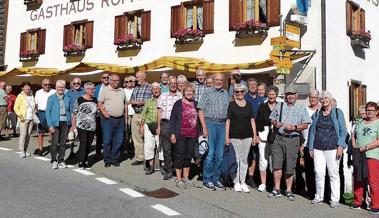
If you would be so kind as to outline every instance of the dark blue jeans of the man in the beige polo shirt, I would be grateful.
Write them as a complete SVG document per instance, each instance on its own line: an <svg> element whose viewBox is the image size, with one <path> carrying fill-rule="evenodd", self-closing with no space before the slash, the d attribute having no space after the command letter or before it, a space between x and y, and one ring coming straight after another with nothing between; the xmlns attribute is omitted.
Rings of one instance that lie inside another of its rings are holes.
<svg viewBox="0 0 379 218"><path fill-rule="evenodd" d="M104 163L118 163L124 137L125 118L105 119L101 117L101 128L103 130Z"/></svg>

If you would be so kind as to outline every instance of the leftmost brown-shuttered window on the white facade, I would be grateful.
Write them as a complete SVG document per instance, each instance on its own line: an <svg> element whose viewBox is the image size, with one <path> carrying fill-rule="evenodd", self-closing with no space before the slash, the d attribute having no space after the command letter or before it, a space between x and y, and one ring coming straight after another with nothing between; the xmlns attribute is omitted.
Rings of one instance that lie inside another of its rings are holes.
<svg viewBox="0 0 379 218"><path fill-rule="evenodd" d="M20 57L45 54L46 29L33 29L20 35Z"/></svg>

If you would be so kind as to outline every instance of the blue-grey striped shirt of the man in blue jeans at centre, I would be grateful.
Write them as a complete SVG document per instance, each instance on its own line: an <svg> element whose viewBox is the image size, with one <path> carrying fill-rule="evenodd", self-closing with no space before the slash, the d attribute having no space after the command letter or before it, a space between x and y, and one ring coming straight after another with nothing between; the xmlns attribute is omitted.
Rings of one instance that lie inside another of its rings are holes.
<svg viewBox="0 0 379 218"><path fill-rule="evenodd" d="M212 87L205 90L197 107L204 112L205 118L225 120L228 106L228 92Z"/></svg>

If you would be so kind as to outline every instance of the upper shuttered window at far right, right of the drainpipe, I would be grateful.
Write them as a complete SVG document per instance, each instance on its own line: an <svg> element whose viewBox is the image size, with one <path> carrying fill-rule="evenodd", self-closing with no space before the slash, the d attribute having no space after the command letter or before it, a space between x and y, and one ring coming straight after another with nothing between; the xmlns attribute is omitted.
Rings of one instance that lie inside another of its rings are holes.
<svg viewBox="0 0 379 218"><path fill-rule="evenodd" d="M366 31L366 13L359 5L346 2L346 34L351 36L355 33Z"/></svg>

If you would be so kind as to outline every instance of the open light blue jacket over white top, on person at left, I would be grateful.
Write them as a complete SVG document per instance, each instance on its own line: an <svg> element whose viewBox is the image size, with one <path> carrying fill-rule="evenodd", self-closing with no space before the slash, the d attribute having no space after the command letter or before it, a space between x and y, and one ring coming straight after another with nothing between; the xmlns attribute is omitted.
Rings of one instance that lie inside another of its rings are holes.
<svg viewBox="0 0 379 218"><path fill-rule="evenodd" d="M70 99L67 95L63 96L63 102L66 107L67 124L71 125ZM56 94L50 95L46 105L46 121L49 128L58 127L60 118L59 99Z"/></svg>

